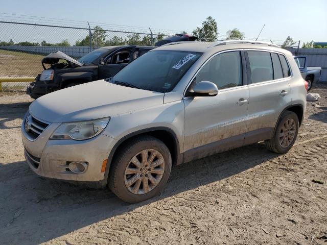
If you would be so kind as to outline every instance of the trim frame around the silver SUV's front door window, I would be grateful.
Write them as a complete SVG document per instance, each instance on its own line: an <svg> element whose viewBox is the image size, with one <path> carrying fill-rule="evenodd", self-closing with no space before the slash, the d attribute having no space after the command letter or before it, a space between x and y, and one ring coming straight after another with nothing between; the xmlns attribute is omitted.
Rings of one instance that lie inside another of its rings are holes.
<svg viewBox="0 0 327 245"><path fill-rule="evenodd" d="M183 99L189 98L189 97L193 97L193 96L186 96L186 92L188 91L189 87L191 86L191 84L193 83L194 79L196 78L196 76L198 75L199 71L203 68L203 66L211 61L215 56L223 54L223 53L227 53L227 52L239 52L240 53L240 60L241 60L241 68L242 68L242 85L240 86L235 86L235 87L230 87L230 88L223 88L223 89L219 89L219 91L225 91L225 90L231 90L231 89L237 89L237 88L243 88L244 86L247 86L247 67L246 67L246 61L245 61L245 55L244 55L244 49L243 48L239 48L239 49L235 49L235 50L224 50L224 51L220 51L218 53L213 54L212 56L210 56L209 58L206 59L205 62L203 62L203 64L199 67L199 69L195 72L195 74L192 76L192 78L190 79L189 83L185 86L184 92L183 92Z"/></svg>

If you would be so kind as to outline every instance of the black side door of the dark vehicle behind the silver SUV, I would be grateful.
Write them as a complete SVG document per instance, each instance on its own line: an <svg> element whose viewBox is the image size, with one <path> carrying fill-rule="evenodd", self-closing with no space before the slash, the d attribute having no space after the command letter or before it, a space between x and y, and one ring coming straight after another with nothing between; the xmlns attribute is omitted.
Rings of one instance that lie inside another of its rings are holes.
<svg viewBox="0 0 327 245"><path fill-rule="evenodd" d="M135 46L123 47L105 58L105 64L99 64L98 79L106 79L116 75L121 69L134 60Z"/></svg>

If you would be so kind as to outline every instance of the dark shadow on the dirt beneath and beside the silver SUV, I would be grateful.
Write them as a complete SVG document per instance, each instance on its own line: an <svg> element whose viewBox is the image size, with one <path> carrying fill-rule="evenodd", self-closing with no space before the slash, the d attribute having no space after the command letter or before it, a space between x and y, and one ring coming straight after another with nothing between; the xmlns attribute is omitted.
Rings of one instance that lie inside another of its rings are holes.
<svg viewBox="0 0 327 245"><path fill-rule="evenodd" d="M108 189L41 179L25 161L0 164L0 240L4 244L46 242L153 202L159 205L163 199L275 157L278 155L268 152L263 143L255 143L175 166L166 188L157 197L137 204L124 203Z"/></svg>

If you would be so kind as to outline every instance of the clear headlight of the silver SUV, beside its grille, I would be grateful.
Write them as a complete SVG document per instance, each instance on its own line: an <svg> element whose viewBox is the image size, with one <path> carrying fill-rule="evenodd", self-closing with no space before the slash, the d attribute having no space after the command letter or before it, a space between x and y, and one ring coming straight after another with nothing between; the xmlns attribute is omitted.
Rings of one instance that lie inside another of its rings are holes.
<svg viewBox="0 0 327 245"><path fill-rule="evenodd" d="M51 139L83 140L95 137L107 126L110 117L91 121L67 122L61 124L51 135Z"/></svg>

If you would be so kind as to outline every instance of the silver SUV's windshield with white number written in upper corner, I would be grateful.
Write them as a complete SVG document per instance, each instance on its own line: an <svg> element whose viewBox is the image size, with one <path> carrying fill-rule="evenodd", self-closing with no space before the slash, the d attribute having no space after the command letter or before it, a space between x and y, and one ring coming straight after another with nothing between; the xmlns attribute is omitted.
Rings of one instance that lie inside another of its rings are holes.
<svg viewBox="0 0 327 245"><path fill-rule="evenodd" d="M197 52L151 51L118 72L112 82L156 92L170 92L200 56L201 53Z"/></svg>

